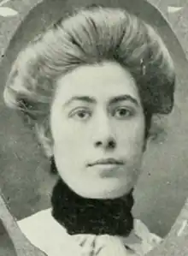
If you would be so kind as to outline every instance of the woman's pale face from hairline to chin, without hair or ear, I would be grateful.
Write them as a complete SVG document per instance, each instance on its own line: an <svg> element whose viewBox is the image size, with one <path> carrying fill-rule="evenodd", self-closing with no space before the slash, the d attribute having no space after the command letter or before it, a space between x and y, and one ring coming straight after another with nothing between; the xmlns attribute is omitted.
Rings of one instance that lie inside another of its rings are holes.
<svg viewBox="0 0 188 256"><path fill-rule="evenodd" d="M120 197L138 180L144 110L118 63L74 69L57 80L50 126L57 170L85 198Z"/></svg>

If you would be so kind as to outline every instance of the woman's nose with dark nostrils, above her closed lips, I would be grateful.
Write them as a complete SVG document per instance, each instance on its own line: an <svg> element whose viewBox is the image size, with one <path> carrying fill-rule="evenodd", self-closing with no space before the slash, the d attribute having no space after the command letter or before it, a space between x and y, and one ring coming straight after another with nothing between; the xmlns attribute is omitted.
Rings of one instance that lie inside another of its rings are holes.
<svg viewBox="0 0 188 256"><path fill-rule="evenodd" d="M95 130L95 147L103 147L105 149L115 149L116 147L116 136L110 124L109 120L103 118L103 121L99 122Z"/></svg>

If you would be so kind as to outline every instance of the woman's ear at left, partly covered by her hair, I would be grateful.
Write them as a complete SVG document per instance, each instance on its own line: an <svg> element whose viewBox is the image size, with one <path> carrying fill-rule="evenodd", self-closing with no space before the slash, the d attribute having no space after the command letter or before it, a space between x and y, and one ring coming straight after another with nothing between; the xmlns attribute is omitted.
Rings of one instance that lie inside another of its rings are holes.
<svg viewBox="0 0 188 256"><path fill-rule="evenodd" d="M44 155L47 158L51 158L53 156L53 140L49 126L36 124L35 130L38 137L38 142L43 148Z"/></svg>

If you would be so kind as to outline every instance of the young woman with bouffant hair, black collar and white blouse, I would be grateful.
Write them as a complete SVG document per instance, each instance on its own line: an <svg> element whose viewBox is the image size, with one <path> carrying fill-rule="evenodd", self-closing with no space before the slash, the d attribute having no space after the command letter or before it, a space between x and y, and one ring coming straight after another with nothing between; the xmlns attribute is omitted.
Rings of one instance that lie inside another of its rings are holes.
<svg viewBox="0 0 188 256"><path fill-rule="evenodd" d="M53 256L144 255L161 241L133 219L132 192L152 116L173 109L174 83L162 39L123 9L80 9L21 51L4 99L59 176L52 211L19 222L35 246Z"/></svg>

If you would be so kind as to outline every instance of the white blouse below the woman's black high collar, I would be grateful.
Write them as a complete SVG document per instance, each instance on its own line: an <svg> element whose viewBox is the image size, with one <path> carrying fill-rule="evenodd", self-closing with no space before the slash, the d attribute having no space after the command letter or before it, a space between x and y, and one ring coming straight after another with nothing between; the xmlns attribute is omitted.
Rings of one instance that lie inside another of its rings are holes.
<svg viewBox="0 0 188 256"><path fill-rule="evenodd" d="M68 235L66 229L51 216L51 209L39 211L18 221L21 231L31 243L48 256L89 256L91 241L96 235ZM80 246L84 241L85 246ZM128 237L97 235L99 256L143 256L162 241L138 219Z"/></svg>

